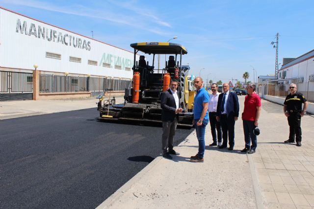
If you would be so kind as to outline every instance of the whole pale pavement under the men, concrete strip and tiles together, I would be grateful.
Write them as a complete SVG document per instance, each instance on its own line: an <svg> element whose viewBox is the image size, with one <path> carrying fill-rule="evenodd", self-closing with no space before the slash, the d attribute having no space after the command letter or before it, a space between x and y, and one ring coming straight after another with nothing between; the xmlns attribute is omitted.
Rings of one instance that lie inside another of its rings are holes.
<svg viewBox="0 0 314 209"><path fill-rule="evenodd" d="M240 112L244 96L239 96ZM207 145L204 163L188 162L197 153L195 131L175 147L180 156L158 157L98 208L314 208L314 117L304 116L303 146L284 144L288 121L283 106L262 100L257 152L242 154L242 120L235 123L235 150ZM160 133L161 135L161 133ZM210 128L206 144L211 143Z"/></svg>

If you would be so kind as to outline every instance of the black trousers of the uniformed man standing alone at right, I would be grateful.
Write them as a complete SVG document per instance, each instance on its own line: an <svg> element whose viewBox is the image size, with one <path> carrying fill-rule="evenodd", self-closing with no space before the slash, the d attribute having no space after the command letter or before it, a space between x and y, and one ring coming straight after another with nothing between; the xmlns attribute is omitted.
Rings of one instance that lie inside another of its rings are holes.
<svg viewBox="0 0 314 209"><path fill-rule="evenodd" d="M289 141L294 141L294 136L295 136L295 140L297 142L298 141L301 142L302 131L301 131L301 115L300 115L300 113L299 112L289 113L288 124L289 124L289 129L290 129Z"/></svg>

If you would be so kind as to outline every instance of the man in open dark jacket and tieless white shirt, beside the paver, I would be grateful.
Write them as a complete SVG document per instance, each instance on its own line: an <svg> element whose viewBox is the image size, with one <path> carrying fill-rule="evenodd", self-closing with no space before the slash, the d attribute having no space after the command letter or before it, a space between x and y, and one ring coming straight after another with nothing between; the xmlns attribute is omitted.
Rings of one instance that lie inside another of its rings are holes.
<svg viewBox="0 0 314 209"><path fill-rule="evenodd" d="M178 114L182 112L180 97L177 91L178 84L177 80L172 79L170 89L161 95L162 156L167 159L172 159L170 154L179 155L179 153L173 150L173 137L176 134Z"/></svg>

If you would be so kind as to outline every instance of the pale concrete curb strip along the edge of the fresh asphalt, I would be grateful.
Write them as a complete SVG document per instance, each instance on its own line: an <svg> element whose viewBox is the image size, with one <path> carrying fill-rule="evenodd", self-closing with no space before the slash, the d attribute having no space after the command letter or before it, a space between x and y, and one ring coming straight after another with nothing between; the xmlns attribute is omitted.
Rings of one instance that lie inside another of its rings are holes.
<svg viewBox="0 0 314 209"><path fill-rule="evenodd" d="M121 186L116 192L114 192L110 197L108 197L102 204L100 204L96 209L106 209L110 208L119 198L124 194L125 191L129 190L136 182L138 182L150 169L152 169L160 160L161 156L155 158L151 163L144 167L140 172L138 172L133 178L131 178L126 184Z"/></svg>

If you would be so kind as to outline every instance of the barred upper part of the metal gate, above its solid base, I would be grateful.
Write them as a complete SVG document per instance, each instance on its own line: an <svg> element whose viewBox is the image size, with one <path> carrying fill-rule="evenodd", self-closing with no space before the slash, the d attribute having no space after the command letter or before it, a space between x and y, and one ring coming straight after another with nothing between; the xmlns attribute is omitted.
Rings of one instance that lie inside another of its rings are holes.
<svg viewBox="0 0 314 209"><path fill-rule="evenodd" d="M1 93L32 93L33 73L0 71Z"/></svg>

